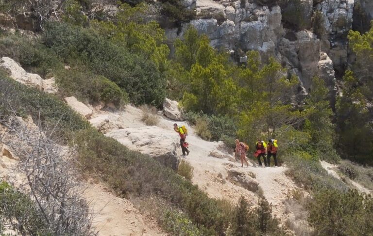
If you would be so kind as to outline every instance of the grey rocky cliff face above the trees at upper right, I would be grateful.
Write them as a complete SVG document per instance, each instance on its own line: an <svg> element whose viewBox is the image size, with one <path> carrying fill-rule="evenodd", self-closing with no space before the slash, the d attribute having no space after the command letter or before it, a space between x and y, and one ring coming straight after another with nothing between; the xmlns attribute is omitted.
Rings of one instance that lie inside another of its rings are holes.
<svg viewBox="0 0 373 236"><path fill-rule="evenodd" d="M197 19L181 30L166 29L166 34L172 42L193 25L211 39L211 46L226 48L239 62L245 61L243 52L248 50L258 50L263 60L276 57L298 76L298 101L309 91L314 76L325 80L334 101L336 72L343 73L348 62L347 34L355 1L373 16L369 0L186 1L186 7L196 6Z"/></svg>

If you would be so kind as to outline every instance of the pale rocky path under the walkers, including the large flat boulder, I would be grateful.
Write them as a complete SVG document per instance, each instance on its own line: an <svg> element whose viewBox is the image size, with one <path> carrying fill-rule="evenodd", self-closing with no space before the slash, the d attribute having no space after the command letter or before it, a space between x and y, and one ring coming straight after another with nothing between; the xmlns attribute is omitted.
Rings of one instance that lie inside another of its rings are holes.
<svg viewBox="0 0 373 236"><path fill-rule="evenodd" d="M116 113L96 112L90 122L95 127L109 127L104 129L106 136L117 139L133 150L151 156L162 152L177 152L177 155L181 155L181 149L175 148L179 143L179 136L172 129L175 121L165 117L159 116L157 126L146 126L141 122L141 110L127 106L124 111ZM194 134L193 127L186 122L176 123L179 126L186 125L189 130L186 141L190 144L190 154L185 159L194 168L192 179L194 184L213 198L226 199L237 204L238 199L244 196L249 202L256 204L257 192L242 188L228 178L228 173L231 171L249 175L254 173L256 176L254 181L257 181L264 197L273 205L273 215L281 220L287 219L283 201L287 199L288 191L297 187L285 175L286 167L261 168L251 164L249 167L240 168L239 162L232 161L234 157L219 151L220 143L202 140ZM212 152L218 154L211 155Z"/></svg>

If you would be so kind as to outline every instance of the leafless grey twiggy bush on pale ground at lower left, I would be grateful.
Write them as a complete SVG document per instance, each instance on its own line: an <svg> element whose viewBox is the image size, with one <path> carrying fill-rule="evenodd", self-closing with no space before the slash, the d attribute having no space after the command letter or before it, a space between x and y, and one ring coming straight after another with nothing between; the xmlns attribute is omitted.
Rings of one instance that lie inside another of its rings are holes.
<svg viewBox="0 0 373 236"><path fill-rule="evenodd" d="M42 130L19 117L0 123L7 129L0 142L20 158L15 171L24 174L24 194L34 200L38 220L47 227L25 232L24 224L33 225L33 219L23 220L27 214L22 216L11 207L2 207L0 212L7 216L11 228L21 235L96 235L91 228L92 214L83 198L83 188L76 181L74 153L50 138L53 129ZM20 221L24 224L19 224Z"/></svg>

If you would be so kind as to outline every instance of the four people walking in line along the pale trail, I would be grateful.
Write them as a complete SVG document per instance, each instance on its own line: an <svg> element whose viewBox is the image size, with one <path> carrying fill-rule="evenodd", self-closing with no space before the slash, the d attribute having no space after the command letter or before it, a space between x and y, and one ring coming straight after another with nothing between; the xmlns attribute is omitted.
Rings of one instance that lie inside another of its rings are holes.
<svg viewBox="0 0 373 236"><path fill-rule="evenodd" d="M182 157L188 156L190 151L188 149L188 143L185 142L186 135L188 135L188 130L185 126L179 127L176 123L173 124L173 129L180 135L180 146L181 150L183 151ZM249 146L244 142L239 142L238 139L236 139L235 142L235 152L236 155L240 157L241 167L243 167L243 163L246 163L246 166L249 166L249 162L246 159L246 152L249 150ZM263 157L264 166L269 167L271 163L271 157L273 157L274 166L277 167L277 150L277 140L270 139L266 143L258 139L255 145L254 157L258 159L259 166L262 166L261 158Z"/></svg>

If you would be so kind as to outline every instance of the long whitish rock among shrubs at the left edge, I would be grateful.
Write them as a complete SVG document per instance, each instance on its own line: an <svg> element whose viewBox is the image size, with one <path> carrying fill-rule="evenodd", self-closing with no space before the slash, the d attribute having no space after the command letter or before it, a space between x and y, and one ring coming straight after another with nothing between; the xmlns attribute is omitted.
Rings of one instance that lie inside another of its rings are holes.
<svg viewBox="0 0 373 236"><path fill-rule="evenodd" d="M0 67L3 67L12 79L33 86L37 89L43 88L43 79L36 74L27 73L18 63L9 57L2 57Z"/></svg>

